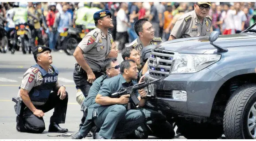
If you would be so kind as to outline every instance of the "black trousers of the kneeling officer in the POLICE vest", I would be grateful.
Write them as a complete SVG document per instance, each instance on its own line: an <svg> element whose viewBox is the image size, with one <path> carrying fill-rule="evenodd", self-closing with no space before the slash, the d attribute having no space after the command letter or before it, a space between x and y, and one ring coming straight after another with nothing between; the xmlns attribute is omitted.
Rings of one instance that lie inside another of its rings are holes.
<svg viewBox="0 0 256 141"><path fill-rule="evenodd" d="M68 104L68 93L64 100L60 100L57 92L50 93L47 102L41 106L34 105L36 109L42 110L44 113L54 108L54 113L50 117L50 123L65 123L66 110ZM21 117L21 124L19 124L20 132L28 133L42 133L45 130L45 123L43 117L39 118L33 112L25 107L24 115Z"/></svg>

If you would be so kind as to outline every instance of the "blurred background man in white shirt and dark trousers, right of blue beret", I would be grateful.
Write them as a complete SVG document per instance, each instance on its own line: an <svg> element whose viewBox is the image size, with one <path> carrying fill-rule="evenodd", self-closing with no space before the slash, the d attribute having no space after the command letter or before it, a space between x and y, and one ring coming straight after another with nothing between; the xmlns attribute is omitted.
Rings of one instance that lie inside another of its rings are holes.
<svg viewBox="0 0 256 141"><path fill-rule="evenodd" d="M126 15L126 10L128 9L127 3L121 3L120 10L116 15L116 40L119 41L118 49L122 50L124 45L129 42L128 35L128 18Z"/></svg>

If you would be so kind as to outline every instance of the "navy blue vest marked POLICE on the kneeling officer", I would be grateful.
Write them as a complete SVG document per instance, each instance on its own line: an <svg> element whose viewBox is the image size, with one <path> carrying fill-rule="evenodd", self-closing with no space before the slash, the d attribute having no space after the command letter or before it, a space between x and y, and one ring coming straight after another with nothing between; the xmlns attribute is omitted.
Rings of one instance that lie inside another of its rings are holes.
<svg viewBox="0 0 256 141"><path fill-rule="evenodd" d="M58 70L56 67L52 66L54 73L49 74L38 64L32 66L39 69L43 76L43 83L41 85L35 86L29 92L29 97L31 101L46 102L50 96L50 92L54 89L55 84L58 80Z"/></svg>

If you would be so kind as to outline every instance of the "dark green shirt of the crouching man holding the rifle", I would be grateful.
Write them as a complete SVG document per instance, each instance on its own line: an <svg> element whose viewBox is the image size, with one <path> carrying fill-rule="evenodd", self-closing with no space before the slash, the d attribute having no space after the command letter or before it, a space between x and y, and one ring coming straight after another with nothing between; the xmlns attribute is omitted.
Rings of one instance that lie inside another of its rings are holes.
<svg viewBox="0 0 256 141"><path fill-rule="evenodd" d="M105 79L102 83L102 86L101 86L98 94L100 94L102 96L111 97L112 93L116 93L122 88L127 88L129 86L136 85L136 84L137 84L136 80L127 83L126 80L124 79L123 75L118 74L115 77ZM136 91L135 95L137 97L140 96L140 94L138 93L138 90ZM131 98L130 98L130 101L131 101ZM107 108L107 107L108 107L108 105L100 105L97 103L89 106L88 107L88 115L86 117L86 120L92 119L93 110L97 112L97 115L100 115L101 112L104 111L105 108Z"/></svg>

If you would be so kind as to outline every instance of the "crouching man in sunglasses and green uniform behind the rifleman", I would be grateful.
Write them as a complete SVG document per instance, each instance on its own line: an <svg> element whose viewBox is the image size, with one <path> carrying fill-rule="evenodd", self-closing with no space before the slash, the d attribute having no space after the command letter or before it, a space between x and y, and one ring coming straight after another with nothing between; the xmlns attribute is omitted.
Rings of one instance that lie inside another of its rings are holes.
<svg viewBox="0 0 256 141"><path fill-rule="evenodd" d="M101 88L102 82L107 78L112 78L118 74L120 74L120 65L116 58L108 58L102 63L102 71L105 72L105 74L101 75L101 77L97 78L93 85L91 86L89 90L89 94L87 98L83 101L82 106L90 107L91 105L95 104L95 98ZM93 109L94 107L91 106L90 109ZM92 116L92 111L89 110L89 115ZM84 118L87 116L87 111L84 111ZM80 124L80 130L78 133L76 133L72 139L82 139L83 137L86 137L87 132L90 130L88 126L83 122ZM88 123L89 124L89 123ZM87 130L87 132L85 131Z"/></svg>

